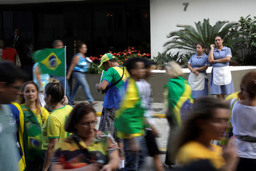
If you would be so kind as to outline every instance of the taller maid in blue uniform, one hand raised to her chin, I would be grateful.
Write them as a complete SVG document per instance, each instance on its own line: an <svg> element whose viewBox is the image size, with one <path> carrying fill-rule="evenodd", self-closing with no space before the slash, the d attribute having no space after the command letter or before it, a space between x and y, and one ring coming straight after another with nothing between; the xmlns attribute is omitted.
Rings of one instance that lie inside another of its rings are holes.
<svg viewBox="0 0 256 171"><path fill-rule="evenodd" d="M216 94L217 98L224 100L225 95L234 93L234 86L229 61L232 58L231 49L222 45L221 36L216 36L214 44L210 45L208 61L212 63L212 74L210 76L210 94Z"/></svg>

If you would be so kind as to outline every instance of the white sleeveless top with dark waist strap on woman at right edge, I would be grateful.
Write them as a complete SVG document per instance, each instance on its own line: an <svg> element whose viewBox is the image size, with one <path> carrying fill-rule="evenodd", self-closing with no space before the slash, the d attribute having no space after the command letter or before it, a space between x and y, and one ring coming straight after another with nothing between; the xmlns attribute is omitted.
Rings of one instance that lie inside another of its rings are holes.
<svg viewBox="0 0 256 171"><path fill-rule="evenodd" d="M232 99L232 106L236 99ZM242 105L240 101L234 103L230 122L233 134L256 137L256 106ZM236 139L237 156L256 159L256 143Z"/></svg>

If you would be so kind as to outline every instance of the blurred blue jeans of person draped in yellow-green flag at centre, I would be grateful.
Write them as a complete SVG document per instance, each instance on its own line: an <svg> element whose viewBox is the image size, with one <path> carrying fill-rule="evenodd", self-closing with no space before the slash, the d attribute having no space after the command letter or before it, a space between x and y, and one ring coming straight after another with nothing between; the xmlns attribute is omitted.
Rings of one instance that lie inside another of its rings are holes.
<svg viewBox="0 0 256 171"><path fill-rule="evenodd" d="M141 151L132 152L129 144L129 139L124 139L125 149L125 168L124 170L139 170L142 168L147 156L147 145L144 136L134 137L141 145Z"/></svg>

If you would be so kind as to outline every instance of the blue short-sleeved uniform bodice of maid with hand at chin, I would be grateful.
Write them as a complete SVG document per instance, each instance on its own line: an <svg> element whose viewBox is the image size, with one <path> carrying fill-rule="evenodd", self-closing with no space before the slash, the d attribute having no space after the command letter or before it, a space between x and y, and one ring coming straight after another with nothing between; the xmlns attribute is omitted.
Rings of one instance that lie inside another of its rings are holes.
<svg viewBox="0 0 256 171"><path fill-rule="evenodd" d="M223 47L221 49L221 51L218 51L217 48L214 48L213 50L213 58L214 60L218 60L218 59L223 59L227 56L232 57L232 53L231 53L231 49L228 47ZM213 64L213 67L222 67L222 66L228 66L229 62L225 62L225 63L221 63L221 62L217 62L215 64Z"/></svg>

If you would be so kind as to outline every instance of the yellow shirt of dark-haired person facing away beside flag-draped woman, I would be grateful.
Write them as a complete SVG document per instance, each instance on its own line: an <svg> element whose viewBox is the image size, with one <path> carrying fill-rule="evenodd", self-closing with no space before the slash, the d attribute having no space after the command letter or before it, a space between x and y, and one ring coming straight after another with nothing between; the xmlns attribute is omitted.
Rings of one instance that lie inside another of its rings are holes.
<svg viewBox="0 0 256 171"><path fill-rule="evenodd" d="M64 131L64 125L72 109L73 107L67 105L52 111L42 129L42 149L48 148L48 139L59 138L60 141L68 137L68 132Z"/></svg>

